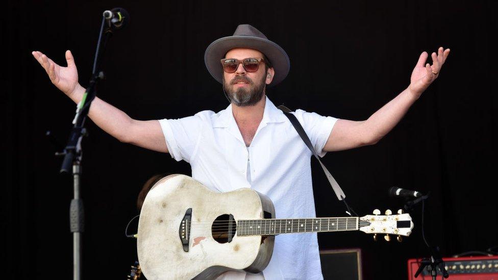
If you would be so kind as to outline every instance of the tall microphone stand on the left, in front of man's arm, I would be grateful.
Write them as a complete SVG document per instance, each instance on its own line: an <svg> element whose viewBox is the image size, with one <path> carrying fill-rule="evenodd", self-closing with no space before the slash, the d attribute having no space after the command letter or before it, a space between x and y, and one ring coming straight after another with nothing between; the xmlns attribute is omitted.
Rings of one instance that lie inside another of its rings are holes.
<svg viewBox="0 0 498 280"><path fill-rule="evenodd" d="M95 59L93 61L93 70L90 83L83 98L77 106L76 116L72 123L74 124L66 147L63 152L57 152L56 156L64 156L61 166L61 173L72 171L74 197L69 207L70 230L73 236L73 279L80 280L82 277L82 233L84 232L84 207L83 200L80 197L81 175L82 175L82 147L81 141L87 136L84 128L85 120L90 110L90 105L95 98L96 85L99 80L104 78L104 73L98 71L101 63L99 55L104 52L107 41L112 36L112 24L105 14L102 17L102 25L98 36L97 47L95 50ZM71 168L72 165L72 168Z"/></svg>

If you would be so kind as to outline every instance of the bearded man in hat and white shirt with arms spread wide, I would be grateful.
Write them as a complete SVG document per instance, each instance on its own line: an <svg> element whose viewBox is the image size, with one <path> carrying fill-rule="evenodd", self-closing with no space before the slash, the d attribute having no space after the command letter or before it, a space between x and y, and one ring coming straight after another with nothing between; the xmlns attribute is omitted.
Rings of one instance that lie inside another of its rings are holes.
<svg viewBox="0 0 498 280"><path fill-rule="evenodd" d="M438 77L450 49L422 53L410 85L364 121L323 117L296 110L317 153L377 143L405 115L421 93ZM85 89L78 84L73 57L60 67L40 52L33 56L51 81L78 103ZM182 119L139 121L95 98L90 118L122 142L169 152L191 164L192 177L221 192L247 187L266 194L277 218L315 217L311 185L311 151L287 117L266 97L266 86L285 79L289 58L278 44L256 28L241 24L233 36L206 49L209 72L222 83L230 106L218 113L203 111ZM316 233L280 235L262 274L227 272L227 279L322 279Z"/></svg>

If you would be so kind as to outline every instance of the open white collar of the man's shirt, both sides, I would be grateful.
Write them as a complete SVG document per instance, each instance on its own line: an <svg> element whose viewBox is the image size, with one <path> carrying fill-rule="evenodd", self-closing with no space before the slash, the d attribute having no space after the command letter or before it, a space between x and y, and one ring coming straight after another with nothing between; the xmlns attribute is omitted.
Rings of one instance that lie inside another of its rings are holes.
<svg viewBox="0 0 498 280"><path fill-rule="evenodd" d="M266 125L272 122L284 122L287 117L284 115L282 110L278 109L266 96L265 109L263 111L263 119L261 124ZM218 113L218 117L213 120L213 128L227 128L228 126L237 124L232 112L232 104L230 104L227 109L222 110ZM261 125L260 125L261 126Z"/></svg>

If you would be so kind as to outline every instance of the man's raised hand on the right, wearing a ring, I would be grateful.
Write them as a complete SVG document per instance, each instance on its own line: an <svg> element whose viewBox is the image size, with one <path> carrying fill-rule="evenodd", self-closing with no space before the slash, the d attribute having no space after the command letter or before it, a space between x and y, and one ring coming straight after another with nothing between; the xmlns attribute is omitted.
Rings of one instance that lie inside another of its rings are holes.
<svg viewBox="0 0 498 280"><path fill-rule="evenodd" d="M410 78L410 86L408 87L415 98L420 97L422 92L437 79L441 67L449 54L449 48L444 49L443 47L439 47L437 55L436 53L432 53L431 55L432 65L429 63L426 64L427 57L429 56L426 52L420 55L417 65L413 69L412 77Z"/></svg>

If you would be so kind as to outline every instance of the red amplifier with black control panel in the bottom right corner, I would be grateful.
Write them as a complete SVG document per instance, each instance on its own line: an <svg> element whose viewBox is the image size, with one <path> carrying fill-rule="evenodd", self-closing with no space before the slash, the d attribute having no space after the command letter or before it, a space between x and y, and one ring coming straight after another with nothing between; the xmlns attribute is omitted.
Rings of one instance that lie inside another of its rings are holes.
<svg viewBox="0 0 498 280"><path fill-rule="evenodd" d="M431 267L427 266L415 278L421 259L408 260L408 280L431 280ZM449 280L498 280L498 256L443 258ZM438 279L441 274L437 272Z"/></svg>

